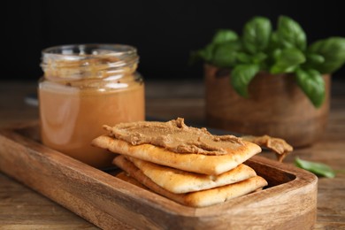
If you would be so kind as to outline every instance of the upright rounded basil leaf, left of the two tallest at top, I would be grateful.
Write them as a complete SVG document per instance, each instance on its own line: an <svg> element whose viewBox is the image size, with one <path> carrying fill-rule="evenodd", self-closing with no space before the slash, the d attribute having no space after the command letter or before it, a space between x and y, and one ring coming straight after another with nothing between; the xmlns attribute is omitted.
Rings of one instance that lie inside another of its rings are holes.
<svg viewBox="0 0 345 230"><path fill-rule="evenodd" d="M269 19L255 17L249 20L243 28L244 49L251 54L265 50L270 41L271 33L272 25Z"/></svg>

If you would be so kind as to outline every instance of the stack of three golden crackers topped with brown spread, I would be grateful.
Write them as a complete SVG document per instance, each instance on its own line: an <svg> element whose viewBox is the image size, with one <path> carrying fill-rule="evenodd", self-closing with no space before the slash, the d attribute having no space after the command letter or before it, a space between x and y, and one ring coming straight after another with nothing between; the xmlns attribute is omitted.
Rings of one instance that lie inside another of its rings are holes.
<svg viewBox="0 0 345 230"><path fill-rule="evenodd" d="M183 119L104 126L93 145L119 154L113 163L150 190L177 203L205 207L264 188L242 164L261 151L232 135L216 136Z"/></svg>

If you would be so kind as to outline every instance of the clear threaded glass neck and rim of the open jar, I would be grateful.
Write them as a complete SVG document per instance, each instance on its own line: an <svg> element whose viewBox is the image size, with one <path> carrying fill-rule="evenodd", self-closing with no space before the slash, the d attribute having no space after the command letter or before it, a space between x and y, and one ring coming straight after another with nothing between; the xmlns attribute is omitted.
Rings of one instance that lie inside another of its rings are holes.
<svg viewBox="0 0 345 230"><path fill-rule="evenodd" d="M78 44L42 50L44 77L54 81L119 79L136 71L136 49L122 44Z"/></svg>

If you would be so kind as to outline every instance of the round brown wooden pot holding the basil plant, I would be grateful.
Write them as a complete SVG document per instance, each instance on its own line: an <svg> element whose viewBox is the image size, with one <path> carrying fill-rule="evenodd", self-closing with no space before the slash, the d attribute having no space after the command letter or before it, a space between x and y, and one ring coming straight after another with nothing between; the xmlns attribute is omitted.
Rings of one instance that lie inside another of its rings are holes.
<svg viewBox="0 0 345 230"><path fill-rule="evenodd" d="M230 71L204 66L206 120L210 127L240 134L285 139L294 147L316 142L326 128L330 103L330 75L324 75L326 99L315 108L293 74L258 73L249 84L249 98L230 84Z"/></svg>

